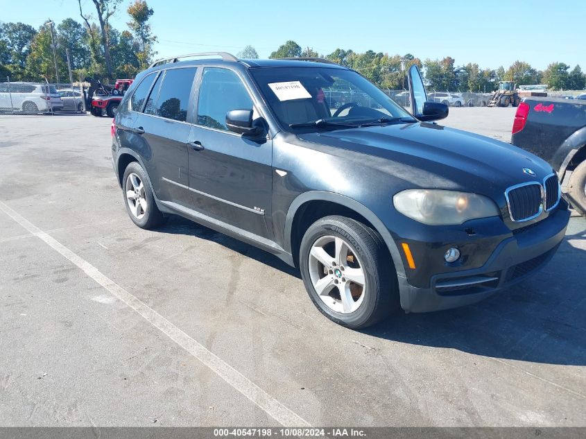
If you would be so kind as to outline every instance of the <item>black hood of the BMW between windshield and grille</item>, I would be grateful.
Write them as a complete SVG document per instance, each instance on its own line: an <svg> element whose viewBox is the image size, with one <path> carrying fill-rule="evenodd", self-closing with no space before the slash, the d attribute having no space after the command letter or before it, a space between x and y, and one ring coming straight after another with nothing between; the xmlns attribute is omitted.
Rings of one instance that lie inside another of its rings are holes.
<svg viewBox="0 0 586 439"><path fill-rule="evenodd" d="M333 146L336 155L345 150L352 151L352 156L367 155L361 162L395 175L411 187L415 183L419 187L502 193L513 184L542 182L553 172L544 160L520 148L435 123L311 132L298 138ZM524 168L536 175L525 173Z"/></svg>

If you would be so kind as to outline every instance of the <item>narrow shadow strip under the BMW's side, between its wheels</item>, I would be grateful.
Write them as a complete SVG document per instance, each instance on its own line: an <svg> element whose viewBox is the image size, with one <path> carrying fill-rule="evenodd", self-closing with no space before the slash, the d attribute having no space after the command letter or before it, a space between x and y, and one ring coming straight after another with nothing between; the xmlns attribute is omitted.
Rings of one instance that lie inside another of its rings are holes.
<svg viewBox="0 0 586 439"><path fill-rule="evenodd" d="M216 232L215 230L212 230L209 227L205 227L204 225L193 223L193 221L189 221L188 219L182 218L181 216L170 215L166 223L157 228L157 232L184 234L189 236L196 236L197 238L206 239L208 241L213 241L220 244L221 246L224 246L225 248L233 250L234 252L238 252L241 255L255 259L255 261L259 261L262 264L276 268L283 273L287 273L288 275L301 279L300 272L297 268L293 268L288 264L285 264L275 255L271 255L270 253L256 248L255 246L250 246L247 243L232 238L232 236L227 236L221 232Z"/></svg>

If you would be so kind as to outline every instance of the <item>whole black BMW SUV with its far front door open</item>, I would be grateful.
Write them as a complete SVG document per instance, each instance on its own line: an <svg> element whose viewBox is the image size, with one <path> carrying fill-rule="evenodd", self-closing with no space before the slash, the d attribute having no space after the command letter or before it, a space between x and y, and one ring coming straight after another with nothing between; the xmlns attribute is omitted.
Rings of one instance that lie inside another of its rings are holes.
<svg viewBox="0 0 586 439"><path fill-rule="evenodd" d="M562 241L569 211L551 166L433 122L448 110L427 101L416 67L410 114L326 60L204 55L141 72L112 124L139 227L179 214L271 252L352 328L486 298ZM360 102L330 105L341 86Z"/></svg>

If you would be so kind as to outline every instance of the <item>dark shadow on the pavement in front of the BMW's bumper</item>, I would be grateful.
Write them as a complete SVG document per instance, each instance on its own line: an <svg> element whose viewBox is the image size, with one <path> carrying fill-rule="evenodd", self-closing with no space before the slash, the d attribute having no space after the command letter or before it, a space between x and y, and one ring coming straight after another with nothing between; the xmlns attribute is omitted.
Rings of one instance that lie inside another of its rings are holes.
<svg viewBox="0 0 586 439"><path fill-rule="evenodd" d="M398 313L363 331L500 359L586 365L586 230L533 277L468 307Z"/></svg>

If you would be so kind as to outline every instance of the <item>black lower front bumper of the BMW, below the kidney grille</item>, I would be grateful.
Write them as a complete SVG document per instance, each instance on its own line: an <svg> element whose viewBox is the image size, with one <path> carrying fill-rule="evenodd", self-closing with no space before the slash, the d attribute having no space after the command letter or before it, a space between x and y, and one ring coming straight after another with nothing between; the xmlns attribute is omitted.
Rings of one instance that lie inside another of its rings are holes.
<svg viewBox="0 0 586 439"><path fill-rule="evenodd" d="M548 218L503 239L478 268L431 274L429 285L413 286L399 276L401 307L408 312L438 311L479 302L532 275L555 254L569 221L567 203Z"/></svg>

